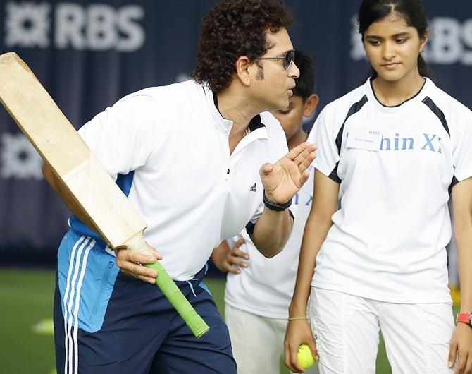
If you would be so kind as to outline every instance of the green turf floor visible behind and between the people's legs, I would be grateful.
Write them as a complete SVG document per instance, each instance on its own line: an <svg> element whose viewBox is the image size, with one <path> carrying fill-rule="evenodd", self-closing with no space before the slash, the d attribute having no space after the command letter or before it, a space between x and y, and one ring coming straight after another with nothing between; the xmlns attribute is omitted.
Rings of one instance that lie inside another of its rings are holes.
<svg viewBox="0 0 472 374"><path fill-rule="evenodd" d="M206 278L205 283L223 313L223 279ZM53 293L54 271L0 267L0 374L54 373L54 343L48 333ZM383 344L377 373L390 373Z"/></svg>

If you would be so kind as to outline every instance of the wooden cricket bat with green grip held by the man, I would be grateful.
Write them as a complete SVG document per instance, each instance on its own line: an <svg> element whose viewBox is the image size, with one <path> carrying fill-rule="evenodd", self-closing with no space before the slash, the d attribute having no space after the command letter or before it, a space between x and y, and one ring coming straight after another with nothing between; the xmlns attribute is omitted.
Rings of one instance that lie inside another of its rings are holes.
<svg viewBox="0 0 472 374"><path fill-rule="evenodd" d="M149 252L147 224L118 188L30 68L14 52L0 55L0 102L49 164L111 248ZM159 261L147 265L159 273L156 284L195 337L209 326L183 296Z"/></svg>

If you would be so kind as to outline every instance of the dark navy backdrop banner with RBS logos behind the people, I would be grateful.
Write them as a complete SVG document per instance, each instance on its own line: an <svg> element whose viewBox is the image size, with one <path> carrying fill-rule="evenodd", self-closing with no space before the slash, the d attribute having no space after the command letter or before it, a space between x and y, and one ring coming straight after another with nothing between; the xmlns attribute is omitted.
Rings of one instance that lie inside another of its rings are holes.
<svg viewBox="0 0 472 374"><path fill-rule="evenodd" d="M190 78L199 22L214 2L0 1L0 52L17 52L80 128L123 95ZM295 19L292 42L316 64L320 107L366 79L359 3L285 1ZM472 1L424 3L433 80L472 107ZM0 261L51 260L67 229L70 212L46 185L41 165L0 108Z"/></svg>

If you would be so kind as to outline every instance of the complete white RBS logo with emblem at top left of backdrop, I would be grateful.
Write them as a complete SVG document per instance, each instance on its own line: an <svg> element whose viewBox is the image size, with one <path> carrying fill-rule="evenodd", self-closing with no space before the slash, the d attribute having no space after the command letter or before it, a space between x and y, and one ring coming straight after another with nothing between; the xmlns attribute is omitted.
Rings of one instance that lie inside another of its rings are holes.
<svg viewBox="0 0 472 374"><path fill-rule="evenodd" d="M108 4L16 3L5 6L7 47L58 49L116 49L132 52L144 44L145 33L138 23L144 16L141 6L114 8ZM53 27L54 26L54 27ZM54 30L51 35L51 30Z"/></svg>

